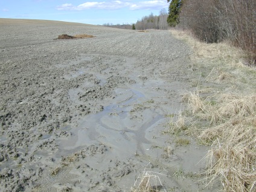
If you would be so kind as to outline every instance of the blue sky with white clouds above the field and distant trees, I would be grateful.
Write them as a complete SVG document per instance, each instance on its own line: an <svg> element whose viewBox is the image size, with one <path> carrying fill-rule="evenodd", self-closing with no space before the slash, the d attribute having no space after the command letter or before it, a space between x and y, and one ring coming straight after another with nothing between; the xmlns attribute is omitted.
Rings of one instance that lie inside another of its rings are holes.
<svg viewBox="0 0 256 192"><path fill-rule="evenodd" d="M132 24L162 8L168 10L167 0L0 0L0 18Z"/></svg>

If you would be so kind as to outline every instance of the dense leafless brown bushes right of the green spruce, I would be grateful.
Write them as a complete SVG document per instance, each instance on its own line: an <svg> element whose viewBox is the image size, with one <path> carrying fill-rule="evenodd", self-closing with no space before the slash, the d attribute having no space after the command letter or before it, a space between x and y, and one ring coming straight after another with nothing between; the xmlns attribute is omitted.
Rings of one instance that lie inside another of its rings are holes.
<svg viewBox="0 0 256 192"><path fill-rule="evenodd" d="M180 14L181 27L207 43L229 40L256 60L256 3L254 0L190 0Z"/></svg>

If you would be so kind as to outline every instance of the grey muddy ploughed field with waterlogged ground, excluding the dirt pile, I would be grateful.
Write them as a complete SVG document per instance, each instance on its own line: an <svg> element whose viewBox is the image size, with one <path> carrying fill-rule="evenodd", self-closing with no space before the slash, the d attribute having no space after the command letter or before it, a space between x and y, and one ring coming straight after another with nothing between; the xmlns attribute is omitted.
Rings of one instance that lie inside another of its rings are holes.
<svg viewBox="0 0 256 192"><path fill-rule="evenodd" d="M194 89L184 42L14 19L0 38L0 191L131 191L143 172L161 191L211 191L197 181L206 147L162 134Z"/></svg>

